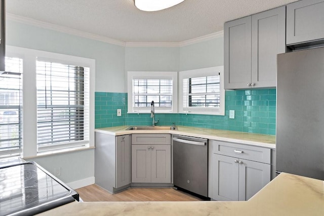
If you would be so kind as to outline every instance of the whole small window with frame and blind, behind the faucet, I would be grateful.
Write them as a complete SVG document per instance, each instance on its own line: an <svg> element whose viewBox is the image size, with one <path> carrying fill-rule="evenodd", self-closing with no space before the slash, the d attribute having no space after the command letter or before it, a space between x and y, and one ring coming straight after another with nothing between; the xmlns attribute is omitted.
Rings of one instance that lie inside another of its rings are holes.
<svg viewBox="0 0 324 216"><path fill-rule="evenodd" d="M128 72L128 112L177 112L177 72ZM175 103L174 103L175 102Z"/></svg>

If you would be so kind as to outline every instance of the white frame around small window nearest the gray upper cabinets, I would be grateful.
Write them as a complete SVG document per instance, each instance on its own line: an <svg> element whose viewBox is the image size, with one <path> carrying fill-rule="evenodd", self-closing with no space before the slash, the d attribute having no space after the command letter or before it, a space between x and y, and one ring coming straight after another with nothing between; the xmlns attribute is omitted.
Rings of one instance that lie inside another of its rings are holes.
<svg viewBox="0 0 324 216"><path fill-rule="evenodd" d="M220 107L187 107L183 104L183 79L220 75ZM224 66L179 71L179 113L225 115Z"/></svg>

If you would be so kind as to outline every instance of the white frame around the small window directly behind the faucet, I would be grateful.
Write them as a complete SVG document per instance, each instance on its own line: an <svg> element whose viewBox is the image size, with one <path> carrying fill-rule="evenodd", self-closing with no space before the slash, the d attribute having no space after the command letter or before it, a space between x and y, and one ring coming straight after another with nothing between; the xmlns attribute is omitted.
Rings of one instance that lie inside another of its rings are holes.
<svg viewBox="0 0 324 216"><path fill-rule="evenodd" d="M151 107L133 107L133 79L171 79L172 80L172 106L171 109L165 107L154 107L156 113L177 113L178 112L178 72L177 71L128 71L128 112L127 113L149 113Z"/></svg>

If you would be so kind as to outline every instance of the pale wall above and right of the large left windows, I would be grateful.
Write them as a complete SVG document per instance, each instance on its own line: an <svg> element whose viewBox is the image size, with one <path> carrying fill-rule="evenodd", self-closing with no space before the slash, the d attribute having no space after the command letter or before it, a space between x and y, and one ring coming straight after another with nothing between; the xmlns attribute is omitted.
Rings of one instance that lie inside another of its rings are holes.
<svg viewBox="0 0 324 216"><path fill-rule="evenodd" d="M6 21L6 44L96 60L96 92L125 91L125 47Z"/></svg>

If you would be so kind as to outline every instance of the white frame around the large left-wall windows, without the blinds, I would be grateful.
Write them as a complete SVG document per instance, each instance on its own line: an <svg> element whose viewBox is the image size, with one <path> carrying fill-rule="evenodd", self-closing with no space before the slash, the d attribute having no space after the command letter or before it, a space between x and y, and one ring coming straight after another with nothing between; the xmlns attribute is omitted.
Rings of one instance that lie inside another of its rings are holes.
<svg viewBox="0 0 324 216"><path fill-rule="evenodd" d="M48 154L70 152L78 149L93 148L95 146L95 63L94 59L32 50L21 47L6 46L7 56L23 59L23 153L24 158L33 158ZM78 65L90 68L90 99L89 99L89 141L82 147L50 148L37 152L37 88L36 88L36 60L49 60L62 64Z"/></svg>

